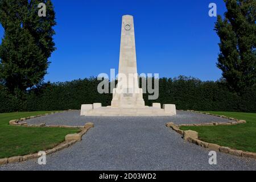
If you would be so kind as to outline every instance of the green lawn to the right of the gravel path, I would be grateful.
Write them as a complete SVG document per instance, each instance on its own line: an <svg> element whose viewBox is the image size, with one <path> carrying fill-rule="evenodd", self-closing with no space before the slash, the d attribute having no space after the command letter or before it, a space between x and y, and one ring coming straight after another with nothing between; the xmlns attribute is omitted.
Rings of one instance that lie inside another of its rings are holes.
<svg viewBox="0 0 256 182"><path fill-rule="evenodd" d="M238 150L256 152L256 113L233 113L207 111L216 115L246 120L247 123L232 126L192 126L181 130L194 130L205 142L217 143Z"/></svg>

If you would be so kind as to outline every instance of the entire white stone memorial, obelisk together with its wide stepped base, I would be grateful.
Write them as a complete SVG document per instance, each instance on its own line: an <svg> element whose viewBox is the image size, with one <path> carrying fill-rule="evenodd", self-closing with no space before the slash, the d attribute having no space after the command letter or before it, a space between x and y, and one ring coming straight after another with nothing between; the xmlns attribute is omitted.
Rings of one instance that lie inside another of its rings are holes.
<svg viewBox="0 0 256 182"><path fill-rule="evenodd" d="M81 115L87 116L160 116L176 115L175 105L154 103L145 106L143 90L139 88L133 16L122 17L118 84L113 90L111 106L100 103L82 105Z"/></svg>

